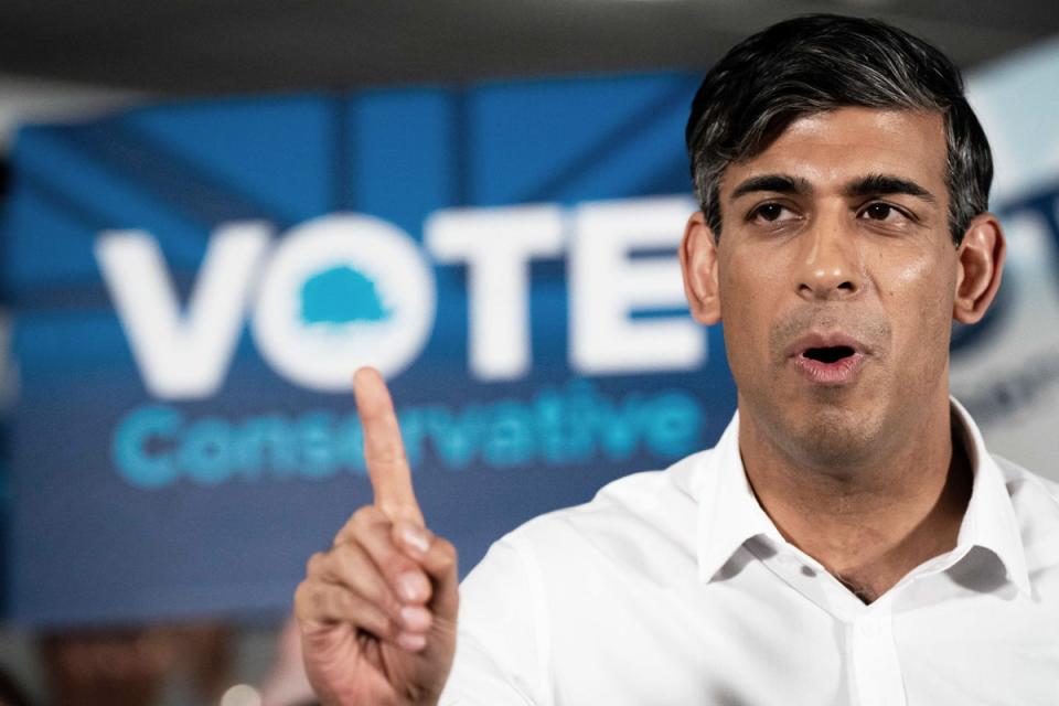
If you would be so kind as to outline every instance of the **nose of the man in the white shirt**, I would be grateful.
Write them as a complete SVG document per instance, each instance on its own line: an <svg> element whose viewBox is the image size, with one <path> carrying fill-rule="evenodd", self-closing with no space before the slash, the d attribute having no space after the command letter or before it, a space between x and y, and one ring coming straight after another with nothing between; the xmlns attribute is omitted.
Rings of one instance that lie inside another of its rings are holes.
<svg viewBox="0 0 1059 706"><path fill-rule="evenodd" d="M847 213L820 214L803 233L794 285L806 299L847 299L864 289L867 278L856 224Z"/></svg>

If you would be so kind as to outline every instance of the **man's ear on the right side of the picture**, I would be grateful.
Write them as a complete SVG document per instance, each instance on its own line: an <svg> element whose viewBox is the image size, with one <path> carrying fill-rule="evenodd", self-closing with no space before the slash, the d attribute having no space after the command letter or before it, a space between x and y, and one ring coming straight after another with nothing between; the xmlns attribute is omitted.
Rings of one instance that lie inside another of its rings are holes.
<svg viewBox="0 0 1059 706"><path fill-rule="evenodd" d="M956 250L956 296L952 318L977 323L985 315L1001 286L1006 245L1001 223L992 213L971 222Z"/></svg>

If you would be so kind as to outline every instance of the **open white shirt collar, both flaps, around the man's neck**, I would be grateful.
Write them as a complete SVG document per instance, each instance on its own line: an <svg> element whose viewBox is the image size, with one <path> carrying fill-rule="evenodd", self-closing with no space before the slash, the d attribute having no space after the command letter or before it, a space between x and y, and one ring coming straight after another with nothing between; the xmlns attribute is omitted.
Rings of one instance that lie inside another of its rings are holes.
<svg viewBox="0 0 1059 706"><path fill-rule="evenodd" d="M991 550L1004 564L1008 580L1028 593L1026 556L1004 474L986 451L982 434L971 415L954 398L950 400L974 473L971 501L956 536L956 553L963 556L973 546ZM739 453L738 411L713 453L703 457L694 494L698 501L700 581L709 582L747 539L766 535L780 545L785 544L747 480Z"/></svg>

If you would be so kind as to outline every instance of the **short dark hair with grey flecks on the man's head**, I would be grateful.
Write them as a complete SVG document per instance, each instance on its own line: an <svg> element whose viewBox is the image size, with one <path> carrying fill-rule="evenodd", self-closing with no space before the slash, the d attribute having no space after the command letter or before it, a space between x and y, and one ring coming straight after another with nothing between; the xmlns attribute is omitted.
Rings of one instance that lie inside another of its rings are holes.
<svg viewBox="0 0 1059 706"><path fill-rule="evenodd" d="M773 24L732 47L706 74L685 139L695 196L720 235L720 179L769 148L800 117L860 106L941 113L948 141L949 229L958 245L988 207L993 158L963 95L960 69L939 49L878 20L811 14Z"/></svg>

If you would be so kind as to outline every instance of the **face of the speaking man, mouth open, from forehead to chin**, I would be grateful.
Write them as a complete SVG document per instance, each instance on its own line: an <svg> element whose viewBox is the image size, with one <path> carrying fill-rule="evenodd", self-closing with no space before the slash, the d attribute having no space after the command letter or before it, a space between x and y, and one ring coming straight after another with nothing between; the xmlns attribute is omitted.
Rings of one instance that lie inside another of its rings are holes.
<svg viewBox="0 0 1059 706"><path fill-rule="evenodd" d="M793 461L865 462L946 395L945 160L940 115L842 108L725 171L716 276L739 406Z"/></svg>

